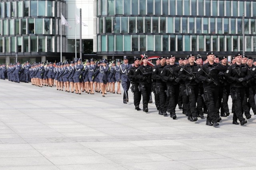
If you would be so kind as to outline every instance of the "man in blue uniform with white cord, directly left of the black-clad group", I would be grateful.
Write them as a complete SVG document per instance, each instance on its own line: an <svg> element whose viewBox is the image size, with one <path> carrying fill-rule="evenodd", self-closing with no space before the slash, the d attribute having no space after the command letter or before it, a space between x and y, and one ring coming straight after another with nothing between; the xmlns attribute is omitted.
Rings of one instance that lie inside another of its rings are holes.
<svg viewBox="0 0 256 170"><path fill-rule="evenodd" d="M122 87L124 89L123 103L129 102L128 90L130 88L130 78L128 78L128 71L130 70L130 64L128 63L129 57L124 56L124 63L120 65Z"/></svg>

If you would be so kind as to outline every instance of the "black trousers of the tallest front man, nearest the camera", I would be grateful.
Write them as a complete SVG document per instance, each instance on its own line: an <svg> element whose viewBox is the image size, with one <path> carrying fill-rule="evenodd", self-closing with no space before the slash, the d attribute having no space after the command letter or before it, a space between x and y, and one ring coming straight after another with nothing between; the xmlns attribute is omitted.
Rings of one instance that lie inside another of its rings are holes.
<svg viewBox="0 0 256 170"><path fill-rule="evenodd" d="M207 103L208 114L206 121L217 122L219 87L204 88L204 96Z"/></svg>

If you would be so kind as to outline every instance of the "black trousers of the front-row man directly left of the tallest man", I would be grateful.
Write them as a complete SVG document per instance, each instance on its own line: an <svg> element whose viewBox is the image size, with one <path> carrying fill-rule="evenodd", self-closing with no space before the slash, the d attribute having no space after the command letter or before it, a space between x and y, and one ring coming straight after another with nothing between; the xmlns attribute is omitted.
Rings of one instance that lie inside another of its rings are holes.
<svg viewBox="0 0 256 170"><path fill-rule="evenodd" d="M188 116L197 116L196 115L196 101L198 98L198 86L187 86L187 92L188 92L188 100L190 105L190 113L188 113Z"/></svg>

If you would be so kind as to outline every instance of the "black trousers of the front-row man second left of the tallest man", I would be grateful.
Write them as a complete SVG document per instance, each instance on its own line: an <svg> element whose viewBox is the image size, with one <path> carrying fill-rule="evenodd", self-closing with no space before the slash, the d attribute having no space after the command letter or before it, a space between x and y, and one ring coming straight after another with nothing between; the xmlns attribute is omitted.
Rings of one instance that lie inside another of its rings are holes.
<svg viewBox="0 0 256 170"><path fill-rule="evenodd" d="M178 104L180 87L179 85L167 86L167 92L169 92L170 115L173 115Z"/></svg>

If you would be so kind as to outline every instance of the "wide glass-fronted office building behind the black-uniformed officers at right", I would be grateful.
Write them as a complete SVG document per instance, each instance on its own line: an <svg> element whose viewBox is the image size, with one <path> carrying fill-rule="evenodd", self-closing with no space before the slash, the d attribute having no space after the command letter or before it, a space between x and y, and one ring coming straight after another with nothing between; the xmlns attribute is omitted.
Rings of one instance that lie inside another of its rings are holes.
<svg viewBox="0 0 256 170"><path fill-rule="evenodd" d="M253 0L97 0L97 55L256 51Z"/></svg>

